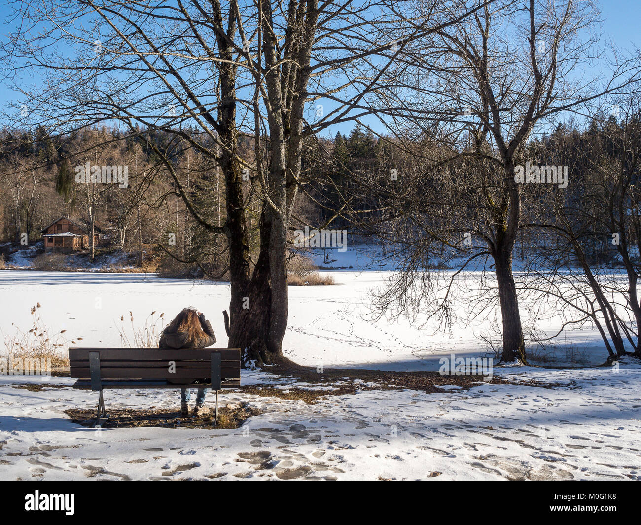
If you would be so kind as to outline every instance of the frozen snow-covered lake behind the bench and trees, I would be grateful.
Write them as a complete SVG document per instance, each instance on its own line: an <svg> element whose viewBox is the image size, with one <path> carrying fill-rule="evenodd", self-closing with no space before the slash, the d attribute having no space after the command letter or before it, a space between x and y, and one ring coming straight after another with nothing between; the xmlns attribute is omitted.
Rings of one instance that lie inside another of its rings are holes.
<svg viewBox="0 0 641 525"><path fill-rule="evenodd" d="M332 271L337 285L290 287L289 324L283 341L288 358L302 365L358 367L380 370L438 370L444 354L485 356L489 346L479 338L488 333L495 307L472 316L449 333L438 332L438 322L425 326L419 318L374 319L370 292L383 287L388 271ZM478 274L476 274L478 275ZM475 278L474 272L469 279ZM466 279L466 278L463 278ZM98 272L0 271L0 329L3 336L15 327L31 328L31 306L40 303L46 326L82 337L78 346L120 346L121 326L128 335L144 328L151 312L171 320L185 306L196 306L212 322L217 346L226 346L222 310L228 308L229 285L206 281L158 278L153 274ZM459 307L458 314L468 317ZM528 319L528 312L522 312ZM124 316L124 322L121 322ZM540 325L549 332L560 326L552 315ZM500 317L499 317L500 318ZM554 360L560 365L578 360L600 364L607 357L595 329L566 332L557 339Z"/></svg>

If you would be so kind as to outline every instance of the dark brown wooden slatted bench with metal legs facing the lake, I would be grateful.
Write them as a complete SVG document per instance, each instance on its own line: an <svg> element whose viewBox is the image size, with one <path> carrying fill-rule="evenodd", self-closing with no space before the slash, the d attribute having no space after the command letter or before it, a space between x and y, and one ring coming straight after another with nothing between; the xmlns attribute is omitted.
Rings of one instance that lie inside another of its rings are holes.
<svg viewBox="0 0 641 525"><path fill-rule="evenodd" d="M217 424L218 391L240 387L240 348L70 348L69 364L73 388L100 392L94 426L108 418L105 388L211 388Z"/></svg>

